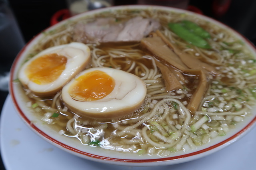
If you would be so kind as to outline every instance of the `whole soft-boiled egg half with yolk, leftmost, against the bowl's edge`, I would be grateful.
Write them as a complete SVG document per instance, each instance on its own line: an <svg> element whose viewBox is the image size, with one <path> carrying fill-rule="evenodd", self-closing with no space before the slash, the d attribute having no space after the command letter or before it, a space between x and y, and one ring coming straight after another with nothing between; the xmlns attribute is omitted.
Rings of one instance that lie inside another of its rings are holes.
<svg viewBox="0 0 256 170"><path fill-rule="evenodd" d="M90 49L83 43L50 47L24 63L18 79L36 95L54 95L82 71L89 61Z"/></svg>

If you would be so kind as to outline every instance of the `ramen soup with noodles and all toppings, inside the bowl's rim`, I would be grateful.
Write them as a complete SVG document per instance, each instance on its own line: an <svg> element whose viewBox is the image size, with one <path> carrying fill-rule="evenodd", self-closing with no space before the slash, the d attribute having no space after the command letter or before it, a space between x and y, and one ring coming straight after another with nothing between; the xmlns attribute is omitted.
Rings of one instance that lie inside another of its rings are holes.
<svg viewBox="0 0 256 170"><path fill-rule="evenodd" d="M256 59L196 16L116 10L43 33L18 79L44 124L92 147L168 156L250 115Z"/></svg>

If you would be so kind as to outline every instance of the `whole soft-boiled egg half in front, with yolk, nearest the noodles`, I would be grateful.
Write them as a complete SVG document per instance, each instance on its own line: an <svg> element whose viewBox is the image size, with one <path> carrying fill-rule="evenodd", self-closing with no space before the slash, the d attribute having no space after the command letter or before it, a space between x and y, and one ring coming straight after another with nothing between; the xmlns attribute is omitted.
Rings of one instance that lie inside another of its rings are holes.
<svg viewBox="0 0 256 170"><path fill-rule="evenodd" d="M74 113L97 119L122 117L140 108L146 97L142 79L126 71L94 67L62 89L62 101Z"/></svg>

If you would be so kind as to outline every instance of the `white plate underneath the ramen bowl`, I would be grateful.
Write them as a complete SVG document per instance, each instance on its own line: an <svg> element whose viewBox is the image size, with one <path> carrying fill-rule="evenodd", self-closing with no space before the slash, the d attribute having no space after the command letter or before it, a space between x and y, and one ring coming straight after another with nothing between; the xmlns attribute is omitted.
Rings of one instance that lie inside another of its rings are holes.
<svg viewBox="0 0 256 170"><path fill-rule="evenodd" d="M255 170L256 128L230 146L194 161L157 167L159 170ZM118 166L92 162L49 144L16 113L10 96L0 122L0 149L7 170L155 170L156 167Z"/></svg>

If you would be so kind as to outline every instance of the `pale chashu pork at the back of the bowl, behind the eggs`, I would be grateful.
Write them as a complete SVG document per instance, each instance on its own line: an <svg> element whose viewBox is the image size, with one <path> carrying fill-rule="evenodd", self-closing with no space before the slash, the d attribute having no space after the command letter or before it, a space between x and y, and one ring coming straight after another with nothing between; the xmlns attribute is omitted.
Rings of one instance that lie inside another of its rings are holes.
<svg viewBox="0 0 256 170"><path fill-rule="evenodd" d="M135 17L126 22L97 18L93 22L76 24L73 40L82 43L139 42L159 28L160 23L152 18Z"/></svg>

